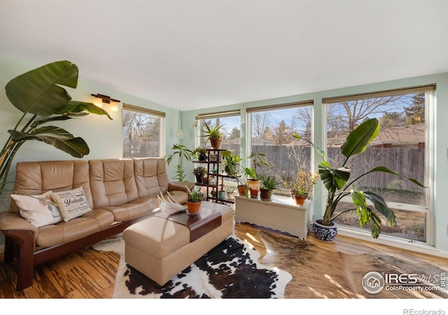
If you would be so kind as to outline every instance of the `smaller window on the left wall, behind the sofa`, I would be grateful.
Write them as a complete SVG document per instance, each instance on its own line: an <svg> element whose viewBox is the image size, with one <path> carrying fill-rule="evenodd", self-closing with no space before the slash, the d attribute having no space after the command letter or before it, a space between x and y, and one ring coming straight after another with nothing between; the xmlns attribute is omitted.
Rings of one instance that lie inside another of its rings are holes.
<svg viewBox="0 0 448 315"><path fill-rule="evenodd" d="M123 157L159 158L165 113L123 104Z"/></svg>

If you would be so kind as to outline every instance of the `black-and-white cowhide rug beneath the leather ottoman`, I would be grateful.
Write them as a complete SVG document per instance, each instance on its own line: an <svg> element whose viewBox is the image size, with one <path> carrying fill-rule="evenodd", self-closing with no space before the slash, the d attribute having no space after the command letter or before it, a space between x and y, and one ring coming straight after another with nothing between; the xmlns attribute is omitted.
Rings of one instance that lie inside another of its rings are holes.
<svg viewBox="0 0 448 315"><path fill-rule="evenodd" d="M113 298L283 298L288 272L257 262L260 253L246 241L231 236L175 276L165 286L125 262L123 237L94 245L99 251L116 251L120 264Z"/></svg>

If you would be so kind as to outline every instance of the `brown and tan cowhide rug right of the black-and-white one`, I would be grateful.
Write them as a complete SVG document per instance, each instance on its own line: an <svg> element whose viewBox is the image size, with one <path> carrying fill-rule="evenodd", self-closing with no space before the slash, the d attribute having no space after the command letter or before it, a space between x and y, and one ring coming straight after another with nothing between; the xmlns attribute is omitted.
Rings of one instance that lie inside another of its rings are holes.
<svg viewBox="0 0 448 315"><path fill-rule="evenodd" d="M427 255L365 245L353 250L339 244L329 246L325 241L302 241L297 237L260 230L258 237L265 244L267 255L261 262L290 272L293 279L285 290L285 298L448 298L447 290L381 290L367 293L363 277L367 272L380 274L417 274L428 278L446 274L448 262L433 262ZM332 248L332 249L328 249ZM423 281L434 287L430 281Z"/></svg>

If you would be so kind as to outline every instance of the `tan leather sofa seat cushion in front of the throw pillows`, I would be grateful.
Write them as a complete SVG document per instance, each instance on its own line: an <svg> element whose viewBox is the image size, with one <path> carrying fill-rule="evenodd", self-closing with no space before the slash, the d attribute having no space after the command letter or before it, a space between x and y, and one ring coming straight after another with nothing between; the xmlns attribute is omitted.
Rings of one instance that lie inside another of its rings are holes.
<svg viewBox="0 0 448 315"><path fill-rule="evenodd" d="M45 225L38 228L36 245L50 247L76 241L82 237L92 235L113 223L113 214L104 209L94 209L83 216L68 222L55 225Z"/></svg>

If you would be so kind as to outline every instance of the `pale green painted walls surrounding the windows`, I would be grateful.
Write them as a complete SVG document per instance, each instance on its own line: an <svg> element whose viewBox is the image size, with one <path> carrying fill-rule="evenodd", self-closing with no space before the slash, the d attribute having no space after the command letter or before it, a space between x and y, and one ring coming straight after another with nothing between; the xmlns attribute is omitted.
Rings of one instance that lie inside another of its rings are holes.
<svg viewBox="0 0 448 315"><path fill-rule="evenodd" d="M54 62L56 60L48 60L48 62ZM76 64L76 60L70 60ZM1 90L4 91L4 86L8 81L15 76L18 76L26 71L34 69L42 64L32 64L14 57L0 55L0 85ZM134 97L130 94L125 94L111 89L105 85L100 85L89 80L83 79L83 67L78 64L79 67L79 80L76 90L67 89L73 99L92 102L91 93L106 94L114 99L120 99L120 109L123 103L132 104L135 106L141 106L148 109L155 109L157 111L163 111L166 113L165 120L165 152L171 153L173 144L181 143L188 146L188 148L195 148L197 145L197 138L195 137L195 115L203 112L215 112L226 111L231 109L240 109L241 115L243 115L243 122L246 122L246 109L253 106L263 106L271 104L283 104L289 102L307 101L309 99L314 100L314 142L317 146L323 147L323 133L321 130L325 130L323 106L321 100L324 97L337 97L347 94L357 94L362 92L374 92L378 90L390 90L400 87L410 87L416 85L426 85L431 83L437 84L436 90L436 106L435 106L435 158L434 158L434 172L435 185L430 188L434 191L433 200L433 213L434 217L431 221L434 225L434 248L439 255L444 255L448 258L448 210L445 206L445 202L442 197L448 190L448 181L444 180L448 178L448 137L445 135L448 133L448 125L445 123L448 119L448 73L440 73L429 76L420 76L416 78L405 78L402 80L393 80L382 83L375 83L370 85L360 85L356 87L346 87L337 90L327 90L321 92L314 92L309 94L293 95L288 97L281 97L277 99L259 100L256 102L248 102L244 104L228 104L227 106L221 106L214 109L205 111L183 111L183 131L185 137L181 140L176 139L175 133L177 130L179 111L169 109L165 106L155 104L145 99ZM181 104L179 104L181 108ZM106 108L105 108L106 109ZM107 110L107 109L106 109ZM20 118L21 112L15 109L10 104L6 94L2 92L0 94L0 125L3 126L3 132L0 132L0 141L3 146L8 137L7 130L13 128ZM87 144L90 146L90 154L85 156L85 160L101 159L101 158L122 158L123 152L123 137L121 128L121 111L111 112L113 120L109 120L104 116L89 115L79 120L70 120L58 124L64 127L66 130L78 137L83 137ZM174 123L175 122L175 123ZM241 124L241 134L247 134L245 123ZM244 142L241 145L246 148ZM52 146L39 143L37 141L28 141L27 144L20 148L20 152L16 155L15 162L28 161L28 160L69 160L70 155L66 155L62 151L58 151ZM318 158L316 157L316 162ZM176 160L172 162L169 167L169 174L172 174L172 170ZM188 163L187 163L188 164ZM193 170L193 165L186 165L186 174L188 174L187 180L193 181L193 175L190 174ZM314 191L315 200L312 205L312 212L314 216L321 216L321 209L323 209L323 189L321 186L317 186ZM437 198L438 197L438 198ZM0 211L7 210L8 202L1 207ZM370 238L367 238L370 239ZM381 241L381 237L379 239ZM3 244L3 237L0 241L0 246ZM419 246L419 244L409 244L409 246ZM419 248L421 251L426 251L426 246Z"/></svg>

